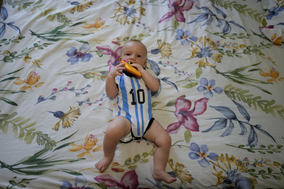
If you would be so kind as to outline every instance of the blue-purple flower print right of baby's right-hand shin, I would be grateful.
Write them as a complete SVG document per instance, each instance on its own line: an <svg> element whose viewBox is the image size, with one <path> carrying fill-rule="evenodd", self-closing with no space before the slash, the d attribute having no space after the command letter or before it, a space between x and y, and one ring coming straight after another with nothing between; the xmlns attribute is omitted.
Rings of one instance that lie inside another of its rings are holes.
<svg viewBox="0 0 284 189"><path fill-rule="evenodd" d="M208 147L206 144L202 144L200 147L198 144L192 142L189 146L189 149L193 152L189 152L188 156L190 159L199 159L197 162L201 165L201 167L209 167L210 162L206 159L208 157L209 159L216 161L216 157L218 157L218 154L216 153L209 153L207 155Z"/></svg>

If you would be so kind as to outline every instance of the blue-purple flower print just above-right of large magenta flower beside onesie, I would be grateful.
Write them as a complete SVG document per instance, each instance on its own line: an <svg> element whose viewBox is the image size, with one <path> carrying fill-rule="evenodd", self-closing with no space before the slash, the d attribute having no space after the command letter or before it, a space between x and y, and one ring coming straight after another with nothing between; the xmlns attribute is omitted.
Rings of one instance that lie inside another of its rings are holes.
<svg viewBox="0 0 284 189"><path fill-rule="evenodd" d="M201 84L200 86L197 87L198 92L204 92L204 97L205 98L211 98L213 97L213 92L216 92L217 94L221 94L223 92L223 89L221 87L214 87L216 84L215 79L210 79L209 82L206 78L201 78L199 83Z"/></svg>

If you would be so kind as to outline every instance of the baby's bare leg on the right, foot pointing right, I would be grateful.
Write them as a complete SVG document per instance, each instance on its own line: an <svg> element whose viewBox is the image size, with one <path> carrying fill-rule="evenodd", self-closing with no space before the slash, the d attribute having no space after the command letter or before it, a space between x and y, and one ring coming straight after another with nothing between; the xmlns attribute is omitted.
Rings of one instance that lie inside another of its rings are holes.
<svg viewBox="0 0 284 189"><path fill-rule="evenodd" d="M145 138L155 142L158 146L154 153L154 173L155 180L164 180L167 183L172 183L177 179L169 175L165 169L169 159L170 147L172 139L161 124L154 120L151 127L145 134Z"/></svg>

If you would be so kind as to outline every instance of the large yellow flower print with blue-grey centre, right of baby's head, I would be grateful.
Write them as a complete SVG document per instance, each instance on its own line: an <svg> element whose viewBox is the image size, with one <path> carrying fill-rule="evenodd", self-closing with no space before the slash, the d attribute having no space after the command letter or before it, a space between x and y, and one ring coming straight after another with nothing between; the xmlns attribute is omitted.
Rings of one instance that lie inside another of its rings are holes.
<svg viewBox="0 0 284 189"><path fill-rule="evenodd" d="M213 50L217 50L218 46L217 43L214 43L209 38L206 38L206 36L200 37L199 40L195 40L195 42L191 42L191 48L189 51L192 52L192 55L189 59L195 57L195 58L201 58L199 61L195 62L198 64L198 67L205 68L206 66L210 66L214 68L216 65L212 65L208 62L209 58L214 60L214 63L221 62L221 59L223 58L222 54L214 54L212 53ZM193 47L196 46L196 47Z"/></svg>

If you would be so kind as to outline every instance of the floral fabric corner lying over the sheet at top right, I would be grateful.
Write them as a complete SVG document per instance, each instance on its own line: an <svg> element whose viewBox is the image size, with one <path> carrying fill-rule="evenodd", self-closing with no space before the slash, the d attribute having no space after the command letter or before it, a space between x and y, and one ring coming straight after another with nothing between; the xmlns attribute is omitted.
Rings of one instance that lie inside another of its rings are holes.
<svg viewBox="0 0 284 189"><path fill-rule="evenodd" d="M260 30L271 42L281 45L284 42L284 1L262 0L262 8L266 12L260 23Z"/></svg>

